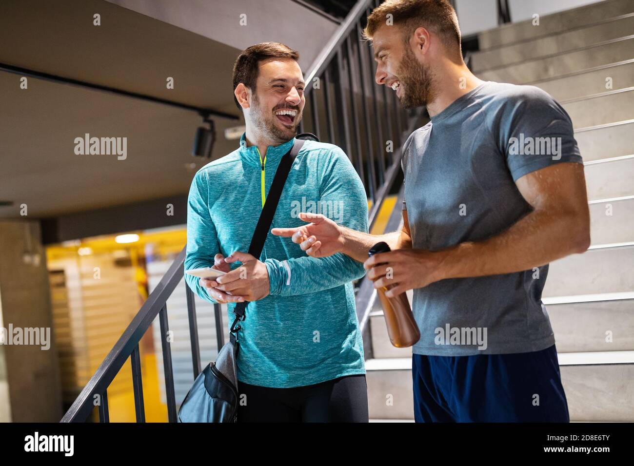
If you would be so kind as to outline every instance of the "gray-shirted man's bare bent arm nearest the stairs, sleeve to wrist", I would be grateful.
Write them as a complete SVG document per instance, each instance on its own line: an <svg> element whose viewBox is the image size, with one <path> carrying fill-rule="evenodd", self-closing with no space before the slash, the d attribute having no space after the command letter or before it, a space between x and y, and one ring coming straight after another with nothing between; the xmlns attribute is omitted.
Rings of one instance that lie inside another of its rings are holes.
<svg viewBox="0 0 634 466"><path fill-rule="evenodd" d="M443 278L517 272L588 249L590 213L583 164L550 165L515 184L533 210L500 235L441 252Z"/></svg>

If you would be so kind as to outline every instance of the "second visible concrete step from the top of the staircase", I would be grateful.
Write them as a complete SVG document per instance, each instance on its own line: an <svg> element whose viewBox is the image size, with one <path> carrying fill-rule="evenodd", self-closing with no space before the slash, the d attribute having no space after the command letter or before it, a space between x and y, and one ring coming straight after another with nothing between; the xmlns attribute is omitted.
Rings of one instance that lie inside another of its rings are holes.
<svg viewBox="0 0 634 466"><path fill-rule="evenodd" d="M578 29L564 29L559 34L540 37L495 49L479 51L472 55L475 73L535 60L555 53L563 53L591 46L597 42L629 36L634 30L634 13L609 18L600 23Z"/></svg>

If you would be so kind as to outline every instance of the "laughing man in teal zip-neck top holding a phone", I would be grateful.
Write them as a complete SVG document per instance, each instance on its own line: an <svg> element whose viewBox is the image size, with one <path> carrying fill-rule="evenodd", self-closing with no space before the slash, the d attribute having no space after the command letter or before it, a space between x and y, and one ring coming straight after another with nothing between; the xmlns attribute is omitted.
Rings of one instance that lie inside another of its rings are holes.
<svg viewBox="0 0 634 466"><path fill-rule="evenodd" d="M363 265L344 254L308 257L290 238L269 234L259 258L247 254L281 157L304 108L299 55L283 44L247 48L233 69L245 117L240 147L196 173L190 188L185 269L214 266L216 280L186 274L202 299L249 301L238 332L239 421L367 422L363 341L353 280ZM292 165L271 228L301 226L306 209L368 230L358 174L337 146L306 141ZM270 229L269 229L270 230ZM240 262L240 265L238 265Z"/></svg>

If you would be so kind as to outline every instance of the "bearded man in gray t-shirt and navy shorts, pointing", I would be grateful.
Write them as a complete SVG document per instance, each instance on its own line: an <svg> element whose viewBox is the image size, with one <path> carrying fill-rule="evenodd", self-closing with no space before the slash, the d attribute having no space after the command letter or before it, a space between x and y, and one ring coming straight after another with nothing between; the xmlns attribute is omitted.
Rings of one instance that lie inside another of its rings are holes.
<svg viewBox="0 0 634 466"><path fill-rule="evenodd" d="M417 422L568 422L541 291L548 262L590 245L569 116L537 87L475 77L448 1L386 0L364 34L377 84L431 117L403 146L403 227L368 235L300 214L310 223L273 233L365 261L387 297L414 290ZM381 241L391 252L368 259Z"/></svg>

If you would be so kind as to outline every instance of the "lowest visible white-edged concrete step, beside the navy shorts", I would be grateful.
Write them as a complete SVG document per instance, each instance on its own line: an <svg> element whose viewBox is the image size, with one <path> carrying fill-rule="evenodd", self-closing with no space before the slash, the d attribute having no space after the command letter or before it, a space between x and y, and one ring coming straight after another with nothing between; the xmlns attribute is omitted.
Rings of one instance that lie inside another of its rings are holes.
<svg viewBox="0 0 634 466"><path fill-rule="evenodd" d="M572 421L634 420L634 351L559 353ZM412 419L411 358L368 359L370 418Z"/></svg>

